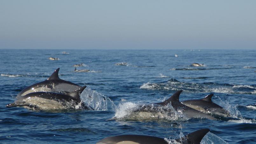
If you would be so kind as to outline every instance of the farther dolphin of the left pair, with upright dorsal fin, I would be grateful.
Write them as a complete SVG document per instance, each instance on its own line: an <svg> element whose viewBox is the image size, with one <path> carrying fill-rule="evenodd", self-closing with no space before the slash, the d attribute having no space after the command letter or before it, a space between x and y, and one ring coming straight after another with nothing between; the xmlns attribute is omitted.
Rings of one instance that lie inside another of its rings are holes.
<svg viewBox="0 0 256 144"><path fill-rule="evenodd" d="M81 86L74 84L72 82L60 79L59 68L58 68L45 81L42 81L24 88L21 92L17 94L16 98L19 98L21 96L24 96L28 93L33 93L33 92L57 92L57 93L65 94L65 93L73 92L79 88L81 88Z"/></svg>

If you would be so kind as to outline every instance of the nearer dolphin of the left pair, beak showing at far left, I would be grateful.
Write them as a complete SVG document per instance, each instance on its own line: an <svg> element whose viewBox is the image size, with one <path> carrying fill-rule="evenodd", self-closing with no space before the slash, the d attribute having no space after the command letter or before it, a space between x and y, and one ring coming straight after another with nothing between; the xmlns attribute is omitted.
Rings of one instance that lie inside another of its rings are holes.
<svg viewBox="0 0 256 144"><path fill-rule="evenodd" d="M81 102L80 94L86 86L67 94L52 92L35 92L19 97L14 103L6 107L24 107L27 109L61 110L61 109L92 109ZM81 104L80 104L81 103ZM80 104L80 106L78 106Z"/></svg>

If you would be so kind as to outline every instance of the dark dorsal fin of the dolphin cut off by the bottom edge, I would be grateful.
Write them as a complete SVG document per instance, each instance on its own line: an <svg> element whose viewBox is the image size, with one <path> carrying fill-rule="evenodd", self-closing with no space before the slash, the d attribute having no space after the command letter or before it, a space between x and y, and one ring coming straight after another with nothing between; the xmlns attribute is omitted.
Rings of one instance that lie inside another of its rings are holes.
<svg viewBox="0 0 256 144"><path fill-rule="evenodd" d="M187 134L180 139L176 139L176 141L181 142L181 143L200 144L200 142L204 138L205 134L207 134L209 131L210 131L210 129L208 129L208 128L200 129L200 130L197 130L190 134Z"/></svg>

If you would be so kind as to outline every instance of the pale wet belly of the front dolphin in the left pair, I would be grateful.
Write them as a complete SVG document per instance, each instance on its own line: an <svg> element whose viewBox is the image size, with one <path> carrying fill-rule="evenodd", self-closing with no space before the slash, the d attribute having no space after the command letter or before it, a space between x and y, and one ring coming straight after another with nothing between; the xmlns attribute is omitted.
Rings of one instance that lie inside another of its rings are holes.
<svg viewBox="0 0 256 144"><path fill-rule="evenodd" d="M23 101L25 101L25 103L20 104L19 106L32 110L64 110L76 108L76 104L74 102L58 102L52 99L44 99L39 97L29 97Z"/></svg>

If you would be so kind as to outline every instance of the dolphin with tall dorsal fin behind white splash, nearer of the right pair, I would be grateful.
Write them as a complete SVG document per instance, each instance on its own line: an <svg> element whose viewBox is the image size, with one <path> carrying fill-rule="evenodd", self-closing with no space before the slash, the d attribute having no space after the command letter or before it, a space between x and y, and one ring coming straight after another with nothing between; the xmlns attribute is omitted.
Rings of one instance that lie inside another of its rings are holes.
<svg viewBox="0 0 256 144"><path fill-rule="evenodd" d="M183 114L185 114L186 116L188 116L189 118L207 118L210 120L217 120L216 118L212 117L211 115L208 115L206 113L202 113L200 111L197 111L191 107L185 106L183 105L180 101L179 101L179 96L180 93L183 90L179 90L176 93L174 93L169 99L166 99L163 102L159 102L159 103L155 103L157 105L162 105L162 106L166 106L169 103L171 103L172 107L176 110L176 111L182 111Z"/></svg>

